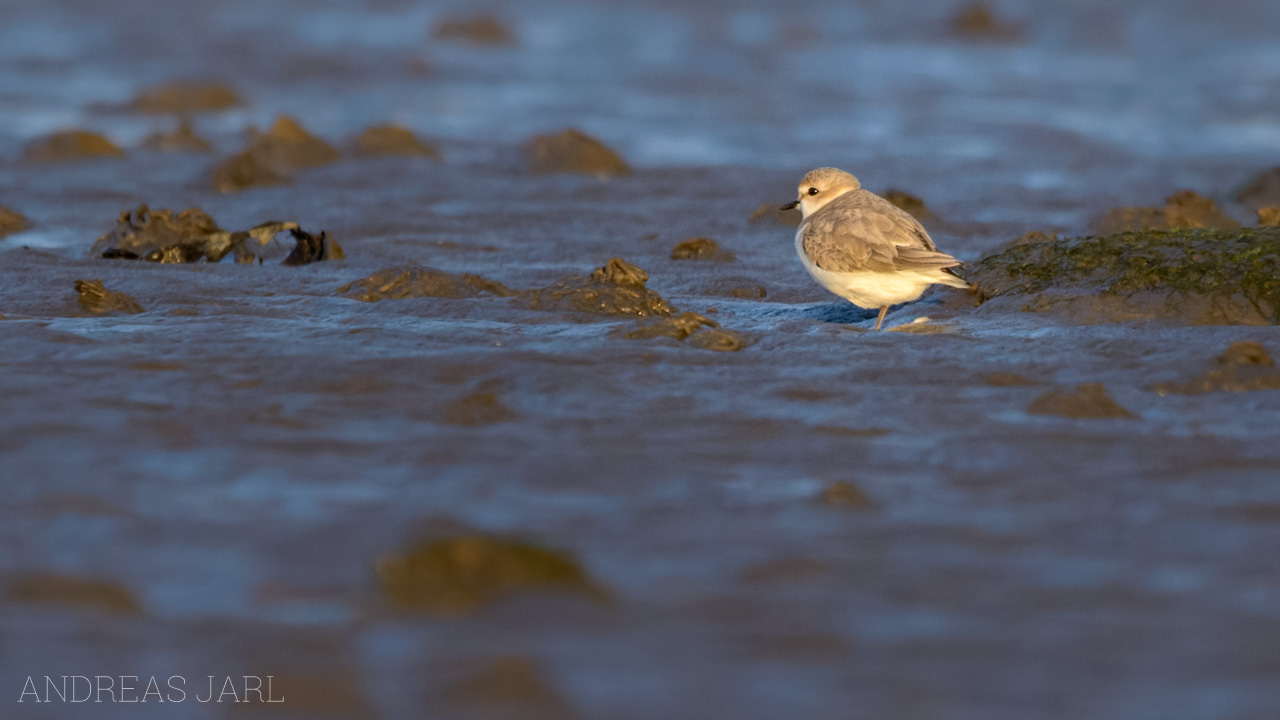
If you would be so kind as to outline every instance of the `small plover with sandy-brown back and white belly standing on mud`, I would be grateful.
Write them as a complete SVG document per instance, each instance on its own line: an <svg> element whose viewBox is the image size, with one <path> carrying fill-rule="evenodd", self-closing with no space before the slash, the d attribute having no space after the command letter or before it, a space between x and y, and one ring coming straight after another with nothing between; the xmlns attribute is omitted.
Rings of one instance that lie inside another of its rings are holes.
<svg viewBox="0 0 1280 720"><path fill-rule="evenodd" d="M796 231L796 254L818 284L859 307L881 309L910 302L931 284L968 290L951 268L960 261L938 252L920 223L888 200L863 190L858 178L836 168L818 168L800 181L804 222Z"/></svg>

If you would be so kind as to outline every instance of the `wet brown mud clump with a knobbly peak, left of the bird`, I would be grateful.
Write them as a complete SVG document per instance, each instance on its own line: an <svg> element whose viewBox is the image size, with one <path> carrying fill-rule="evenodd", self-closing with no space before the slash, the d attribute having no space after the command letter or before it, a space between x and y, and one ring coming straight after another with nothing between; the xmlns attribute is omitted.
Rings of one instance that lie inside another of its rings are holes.
<svg viewBox="0 0 1280 720"><path fill-rule="evenodd" d="M645 287L649 273L621 258L611 259L590 275L570 275L522 299L534 310L576 310L596 315L652 318L671 315L660 295Z"/></svg>

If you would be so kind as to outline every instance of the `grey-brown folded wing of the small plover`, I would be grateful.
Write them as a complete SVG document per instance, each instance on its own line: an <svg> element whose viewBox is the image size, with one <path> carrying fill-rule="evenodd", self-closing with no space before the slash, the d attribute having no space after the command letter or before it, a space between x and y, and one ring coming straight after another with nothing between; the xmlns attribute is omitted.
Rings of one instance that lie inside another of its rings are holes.
<svg viewBox="0 0 1280 720"><path fill-rule="evenodd" d="M801 246L813 264L833 273L890 273L960 265L955 258L934 249L915 218L878 196L851 195L833 200L805 220L800 229Z"/></svg>

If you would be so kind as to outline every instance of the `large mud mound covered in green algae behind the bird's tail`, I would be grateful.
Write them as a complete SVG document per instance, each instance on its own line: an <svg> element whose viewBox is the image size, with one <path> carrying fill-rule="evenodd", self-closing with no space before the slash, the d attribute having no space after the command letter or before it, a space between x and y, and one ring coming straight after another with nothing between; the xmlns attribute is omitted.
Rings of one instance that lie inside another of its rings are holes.
<svg viewBox="0 0 1280 720"><path fill-rule="evenodd" d="M1280 323L1280 228L1147 231L1009 245L968 272L987 310L1075 323Z"/></svg>

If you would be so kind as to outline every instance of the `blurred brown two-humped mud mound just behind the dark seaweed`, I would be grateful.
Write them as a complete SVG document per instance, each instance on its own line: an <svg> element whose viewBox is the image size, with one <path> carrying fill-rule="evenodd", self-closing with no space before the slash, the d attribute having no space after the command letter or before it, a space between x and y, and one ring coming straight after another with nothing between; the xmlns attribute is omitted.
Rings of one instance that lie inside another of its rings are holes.
<svg viewBox="0 0 1280 720"><path fill-rule="evenodd" d="M280 115L266 132L250 131L248 147L214 168L212 184L219 192L284 184L294 170L326 165L338 158L337 147L293 118Z"/></svg>

